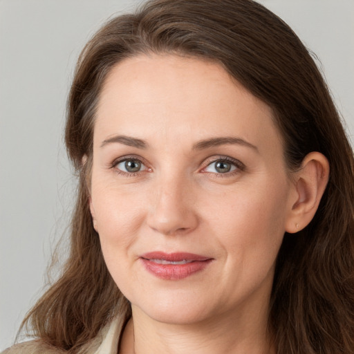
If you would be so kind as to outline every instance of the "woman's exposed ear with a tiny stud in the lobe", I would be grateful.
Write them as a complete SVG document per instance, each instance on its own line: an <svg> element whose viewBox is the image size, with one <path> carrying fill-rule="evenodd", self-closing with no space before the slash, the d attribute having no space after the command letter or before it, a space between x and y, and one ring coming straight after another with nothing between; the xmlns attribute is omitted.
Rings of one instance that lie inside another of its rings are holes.
<svg viewBox="0 0 354 354"><path fill-rule="evenodd" d="M290 202L286 232L298 232L310 223L326 189L328 177L327 158L317 151L308 153L301 169L294 174L295 197Z"/></svg>

